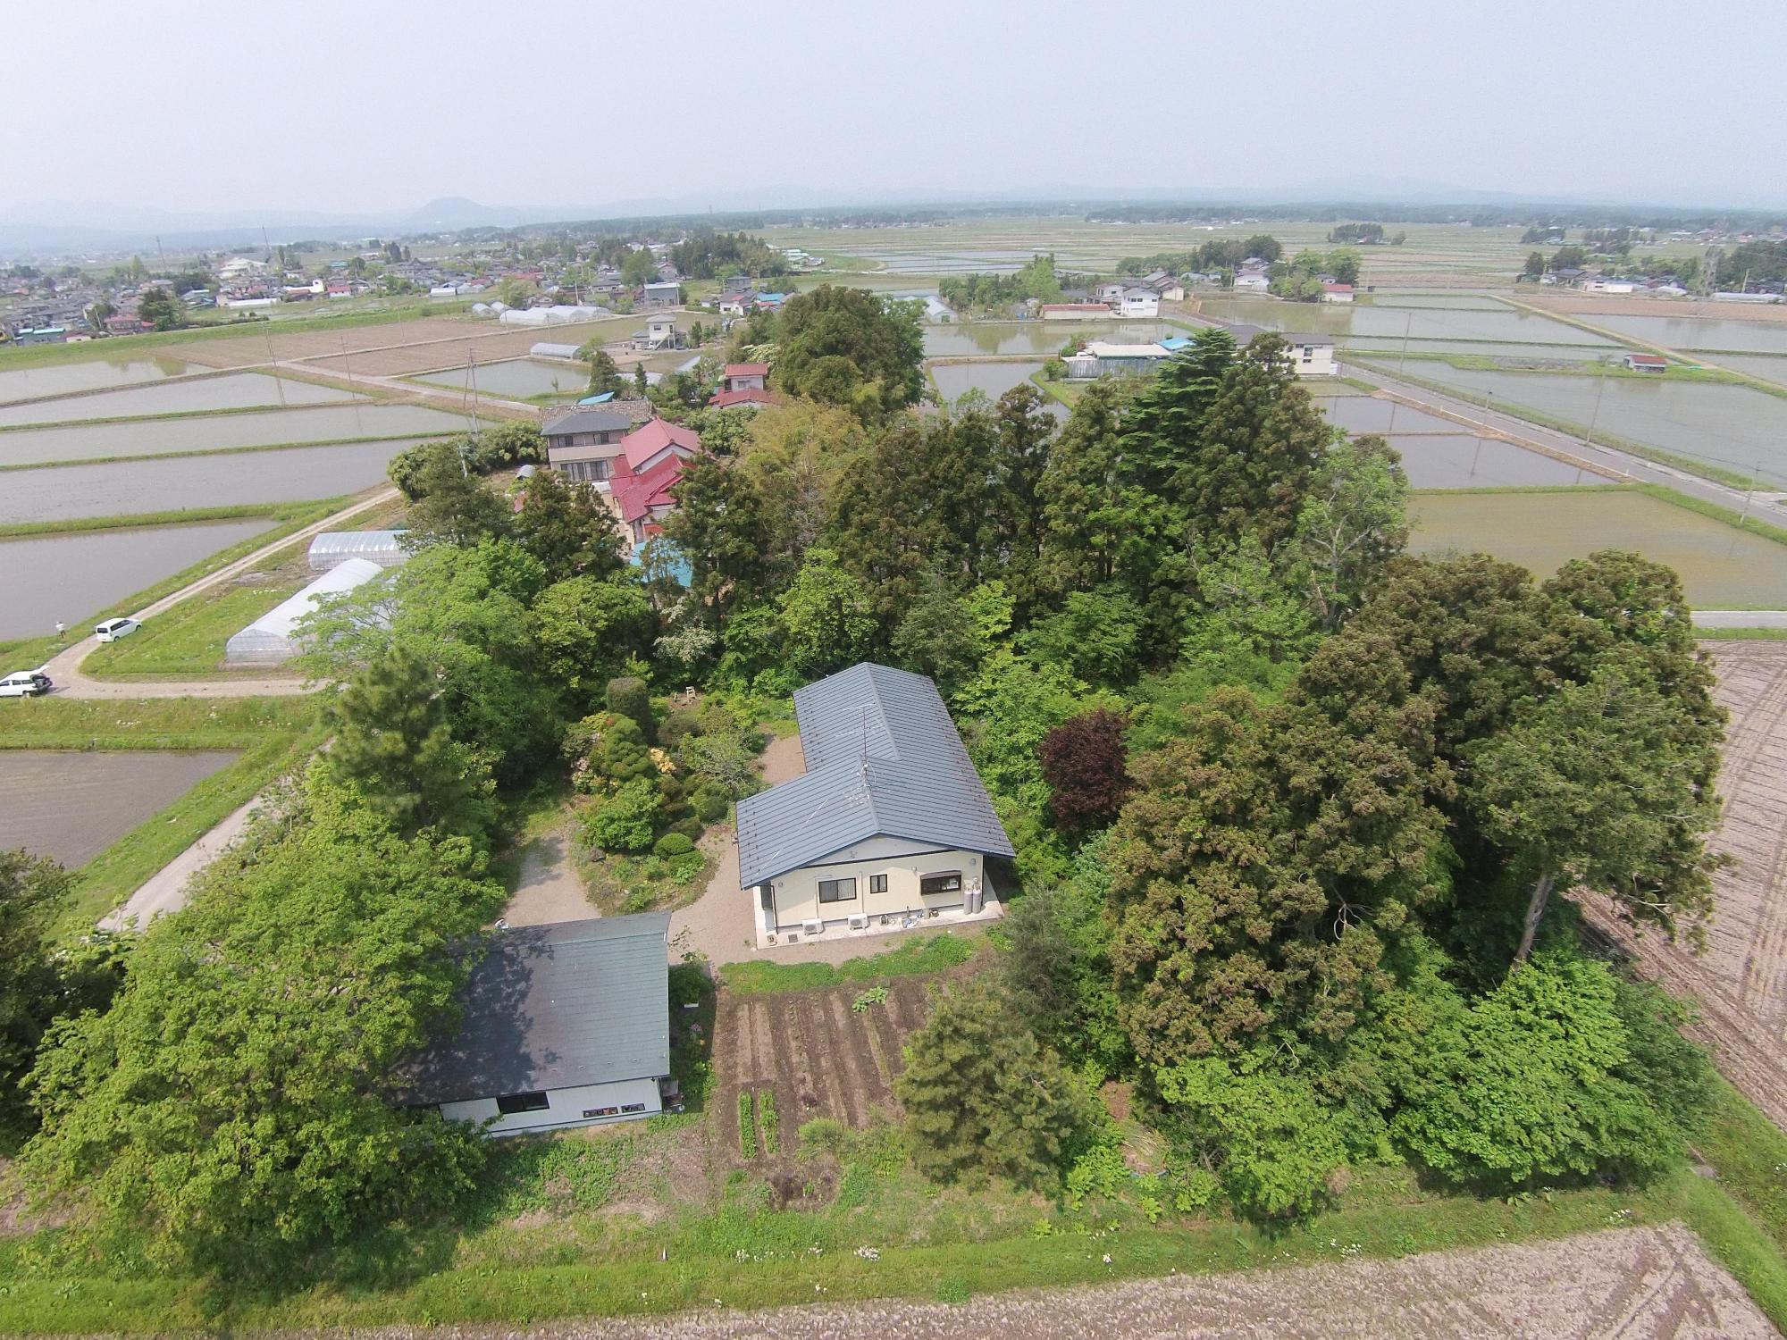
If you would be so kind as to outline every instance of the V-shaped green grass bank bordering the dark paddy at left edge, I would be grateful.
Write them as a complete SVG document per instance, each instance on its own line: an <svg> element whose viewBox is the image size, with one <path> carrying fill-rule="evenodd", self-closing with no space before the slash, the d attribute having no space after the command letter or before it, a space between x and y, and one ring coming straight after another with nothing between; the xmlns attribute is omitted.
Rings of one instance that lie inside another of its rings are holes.
<svg viewBox="0 0 1787 1340"><path fill-rule="evenodd" d="M23 699L0 711L0 749L239 749L243 756L145 820L75 877L63 933L79 934L323 740L313 699Z"/></svg>

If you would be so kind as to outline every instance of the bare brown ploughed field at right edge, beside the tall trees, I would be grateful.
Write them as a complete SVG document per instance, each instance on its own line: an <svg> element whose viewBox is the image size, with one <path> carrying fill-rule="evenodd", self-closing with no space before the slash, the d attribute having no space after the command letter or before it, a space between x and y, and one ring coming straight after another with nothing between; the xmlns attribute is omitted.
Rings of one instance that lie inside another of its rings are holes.
<svg viewBox="0 0 1787 1340"><path fill-rule="evenodd" d="M1724 743L1724 822L1717 850L1735 863L1714 875L1707 952L1635 934L1587 899L1596 927L1676 993L1699 1002L1694 1029L1719 1070L1787 1124L1787 643L1708 641L1717 700L1732 713Z"/></svg>

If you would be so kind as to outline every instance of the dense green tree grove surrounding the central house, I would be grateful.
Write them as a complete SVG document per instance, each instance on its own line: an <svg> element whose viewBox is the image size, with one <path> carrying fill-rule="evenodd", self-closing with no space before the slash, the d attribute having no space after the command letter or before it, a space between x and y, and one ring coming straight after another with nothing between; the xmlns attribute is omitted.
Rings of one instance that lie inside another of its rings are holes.
<svg viewBox="0 0 1787 1340"><path fill-rule="evenodd" d="M636 563L593 491L513 479L536 429L393 459L415 552L304 627L332 745L122 988L48 952L61 874L0 858L36 1190L223 1274L452 1202L482 1145L402 1085L518 802L558 786L588 849L690 877L758 724L865 657L938 683L1017 849L999 952L908 1040L927 1176L1092 1193L1124 1176L1108 1085L1162 1138L1162 1213L1682 1160L1707 1061L1574 902L1689 942L1712 909L1723 713L1673 572L1408 556L1397 454L1271 334L1203 332L1063 423L1031 386L915 407L917 318L863 291L747 350L781 402L688 411L709 450Z"/></svg>

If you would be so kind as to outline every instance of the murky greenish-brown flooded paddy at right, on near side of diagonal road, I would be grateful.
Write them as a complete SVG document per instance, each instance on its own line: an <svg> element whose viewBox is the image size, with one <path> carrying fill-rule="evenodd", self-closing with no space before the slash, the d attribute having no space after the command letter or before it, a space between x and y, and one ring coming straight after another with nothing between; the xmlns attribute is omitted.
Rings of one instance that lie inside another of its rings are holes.
<svg viewBox="0 0 1787 1340"><path fill-rule="evenodd" d="M1544 577L1598 549L1632 549L1682 574L1701 609L1787 609L1787 545L1644 493L1426 493L1410 515L1417 554L1481 550Z"/></svg>

